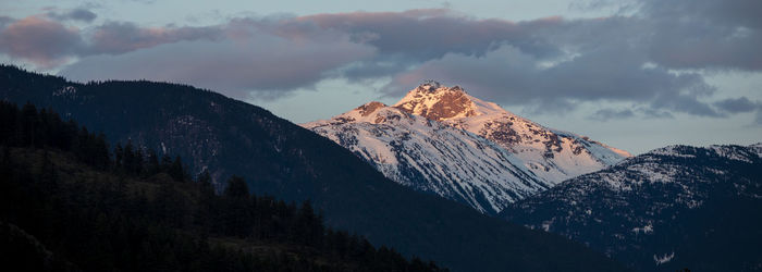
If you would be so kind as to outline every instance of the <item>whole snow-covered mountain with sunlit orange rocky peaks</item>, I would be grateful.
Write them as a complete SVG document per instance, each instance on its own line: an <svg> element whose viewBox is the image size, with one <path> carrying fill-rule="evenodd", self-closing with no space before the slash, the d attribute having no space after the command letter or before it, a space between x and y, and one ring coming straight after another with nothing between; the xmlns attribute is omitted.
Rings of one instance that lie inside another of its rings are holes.
<svg viewBox="0 0 762 272"><path fill-rule="evenodd" d="M370 102L303 126L397 183L489 214L630 156L435 82L410 90L394 106Z"/></svg>

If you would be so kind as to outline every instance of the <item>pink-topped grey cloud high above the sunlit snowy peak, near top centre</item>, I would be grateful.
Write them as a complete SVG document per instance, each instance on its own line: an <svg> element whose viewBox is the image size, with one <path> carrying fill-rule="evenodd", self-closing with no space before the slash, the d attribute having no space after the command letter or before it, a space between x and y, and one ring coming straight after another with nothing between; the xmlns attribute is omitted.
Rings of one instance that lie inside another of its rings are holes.
<svg viewBox="0 0 762 272"><path fill-rule="evenodd" d="M284 22L279 29L304 33L317 26L341 30L379 48L380 53L429 60L451 52L483 55L502 44L536 57L557 55L558 49L532 30L560 23L560 18L514 23L470 18L450 10L413 10L309 15Z"/></svg>

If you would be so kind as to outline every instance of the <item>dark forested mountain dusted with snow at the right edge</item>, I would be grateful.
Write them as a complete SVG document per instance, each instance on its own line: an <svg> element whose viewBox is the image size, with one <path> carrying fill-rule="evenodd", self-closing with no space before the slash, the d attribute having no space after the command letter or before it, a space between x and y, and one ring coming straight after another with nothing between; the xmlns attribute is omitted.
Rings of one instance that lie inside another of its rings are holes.
<svg viewBox="0 0 762 272"><path fill-rule="evenodd" d="M641 271L762 269L762 144L671 146L500 213Z"/></svg>

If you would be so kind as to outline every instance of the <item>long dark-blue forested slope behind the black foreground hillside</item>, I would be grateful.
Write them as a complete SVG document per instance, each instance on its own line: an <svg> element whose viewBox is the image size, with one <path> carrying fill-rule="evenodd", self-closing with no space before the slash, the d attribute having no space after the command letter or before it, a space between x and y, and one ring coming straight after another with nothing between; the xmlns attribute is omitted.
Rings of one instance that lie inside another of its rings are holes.
<svg viewBox="0 0 762 272"><path fill-rule="evenodd" d="M386 180L348 150L261 108L189 86L78 84L0 66L0 99L52 107L116 141L187 158L214 180L310 199L329 226L454 271L590 271L620 265L553 234L489 218Z"/></svg>

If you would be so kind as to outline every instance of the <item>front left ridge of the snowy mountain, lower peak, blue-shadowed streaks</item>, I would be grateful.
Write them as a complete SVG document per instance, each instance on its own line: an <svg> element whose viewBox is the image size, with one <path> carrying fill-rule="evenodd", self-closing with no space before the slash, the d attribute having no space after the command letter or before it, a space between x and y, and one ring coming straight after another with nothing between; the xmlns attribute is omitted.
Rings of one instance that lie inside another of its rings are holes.
<svg viewBox="0 0 762 272"><path fill-rule="evenodd" d="M380 102L303 126L352 150L395 182L486 213L550 186L494 143Z"/></svg>

